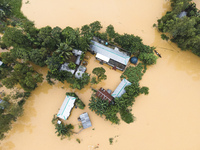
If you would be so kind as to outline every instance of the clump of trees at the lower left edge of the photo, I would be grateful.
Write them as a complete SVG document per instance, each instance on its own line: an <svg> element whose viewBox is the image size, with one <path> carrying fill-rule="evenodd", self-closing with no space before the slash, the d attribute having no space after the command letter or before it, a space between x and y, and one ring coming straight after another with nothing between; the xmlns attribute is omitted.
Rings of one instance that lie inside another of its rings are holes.
<svg viewBox="0 0 200 150"><path fill-rule="evenodd" d="M5 138L5 133L11 129L13 121L23 114L23 105L30 92L15 90L10 94L1 93L0 102L0 140Z"/></svg>

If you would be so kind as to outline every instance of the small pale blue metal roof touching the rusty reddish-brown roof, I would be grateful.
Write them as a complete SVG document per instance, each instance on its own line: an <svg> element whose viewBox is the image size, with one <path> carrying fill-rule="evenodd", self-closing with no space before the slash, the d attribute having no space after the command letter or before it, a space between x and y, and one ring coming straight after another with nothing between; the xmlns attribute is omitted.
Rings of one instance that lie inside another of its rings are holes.
<svg viewBox="0 0 200 150"><path fill-rule="evenodd" d="M115 89L115 91L112 93L112 96L115 97L121 97L126 91L125 87L131 85L131 82L129 82L126 79L123 79L121 83L118 85L118 87Z"/></svg>

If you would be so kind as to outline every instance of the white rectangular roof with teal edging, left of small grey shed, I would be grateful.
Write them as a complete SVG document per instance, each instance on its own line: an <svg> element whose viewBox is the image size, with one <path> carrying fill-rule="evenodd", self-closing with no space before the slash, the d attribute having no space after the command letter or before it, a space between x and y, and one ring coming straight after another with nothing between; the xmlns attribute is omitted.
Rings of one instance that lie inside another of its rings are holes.
<svg viewBox="0 0 200 150"><path fill-rule="evenodd" d="M62 104L62 106L60 107L60 110L57 114L57 116L60 119L64 119L67 120L67 118L70 115L71 109L74 107L74 102L75 102L76 98L72 97L72 96L66 96L65 100Z"/></svg>

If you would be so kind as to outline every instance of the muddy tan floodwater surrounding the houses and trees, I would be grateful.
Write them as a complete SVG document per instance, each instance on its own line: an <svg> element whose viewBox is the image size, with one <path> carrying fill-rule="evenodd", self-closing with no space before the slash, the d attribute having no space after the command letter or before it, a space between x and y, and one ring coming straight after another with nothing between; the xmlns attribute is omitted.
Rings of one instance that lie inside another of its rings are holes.
<svg viewBox="0 0 200 150"><path fill-rule="evenodd" d="M68 123L78 126L77 117L88 112L92 127L74 135L71 140L60 140L51 124L58 112L66 91L75 91L89 103L92 91L68 88L68 84L50 86L44 81L25 104L24 115L13 124L12 130L1 142L1 150L199 150L200 149L200 58L182 52L175 44L161 40L152 27L156 20L169 10L167 0L27 0L22 11L38 28L81 27L99 20L106 27L112 24L119 33L140 36L145 44L156 46L162 58L148 67L141 86L150 93L140 95L133 106L136 121L111 125L96 116L87 107L73 109ZM200 1L195 0L200 8ZM105 30L105 28L104 28ZM91 54L87 72L101 66ZM119 84L120 71L103 66L107 80L97 85L114 90ZM47 68L35 67L46 74ZM61 88L63 87L63 88ZM76 138L81 140L79 144ZM109 138L114 138L109 144ZM97 148L98 147L98 148Z"/></svg>

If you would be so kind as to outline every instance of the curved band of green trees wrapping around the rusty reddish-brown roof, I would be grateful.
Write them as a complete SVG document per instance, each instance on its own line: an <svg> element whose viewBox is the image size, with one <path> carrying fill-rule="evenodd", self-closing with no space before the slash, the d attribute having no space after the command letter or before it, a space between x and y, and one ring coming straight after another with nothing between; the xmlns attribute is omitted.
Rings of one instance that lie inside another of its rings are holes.
<svg viewBox="0 0 200 150"><path fill-rule="evenodd" d="M139 81L142 79L144 68L142 64L136 67L129 66L122 74L121 78L127 78L132 84L125 87L126 93L121 97L114 99L114 104L109 103L107 100L97 98L95 94L92 95L89 108L99 116L105 116L106 120L118 124L120 119L117 113L120 113L121 119L126 123L134 121L134 116L131 113L131 106L135 102L135 98L140 94L148 94L147 87L140 87Z"/></svg>

